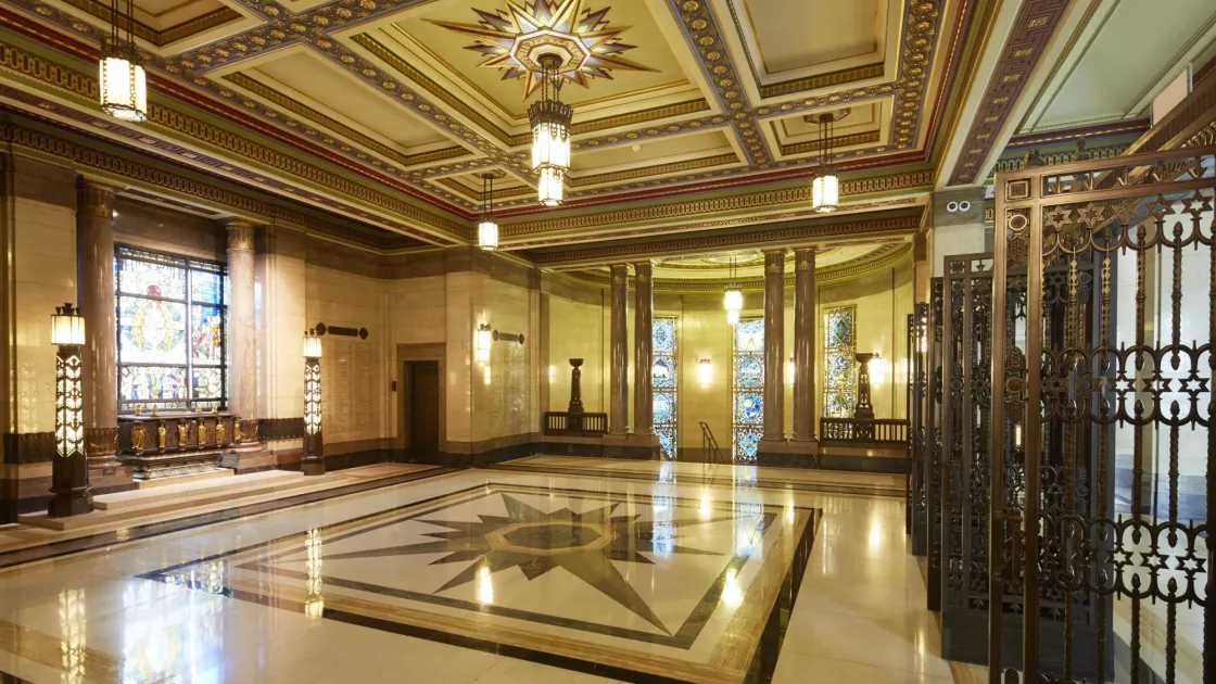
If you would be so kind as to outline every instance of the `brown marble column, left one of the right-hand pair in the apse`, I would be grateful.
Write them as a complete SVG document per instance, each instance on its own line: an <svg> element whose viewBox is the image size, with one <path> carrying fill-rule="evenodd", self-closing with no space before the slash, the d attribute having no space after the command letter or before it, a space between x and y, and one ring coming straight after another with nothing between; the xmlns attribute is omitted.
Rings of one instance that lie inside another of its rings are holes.
<svg viewBox="0 0 1216 684"><path fill-rule="evenodd" d="M764 434L783 442L786 419L786 251L764 253Z"/></svg>

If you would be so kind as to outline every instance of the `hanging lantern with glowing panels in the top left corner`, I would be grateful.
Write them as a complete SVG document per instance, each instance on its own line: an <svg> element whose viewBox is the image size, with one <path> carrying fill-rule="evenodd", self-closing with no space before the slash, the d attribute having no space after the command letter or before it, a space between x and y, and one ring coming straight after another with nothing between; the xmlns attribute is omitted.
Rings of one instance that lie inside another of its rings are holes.
<svg viewBox="0 0 1216 684"><path fill-rule="evenodd" d="M97 90L101 110L116 119L140 123L147 118L148 95L143 66L135 46L135 0L126 0L126 30L120 30L119 0L111 0L109 38L97 61ZM125 35L125 38L124 38Z"/></svg>

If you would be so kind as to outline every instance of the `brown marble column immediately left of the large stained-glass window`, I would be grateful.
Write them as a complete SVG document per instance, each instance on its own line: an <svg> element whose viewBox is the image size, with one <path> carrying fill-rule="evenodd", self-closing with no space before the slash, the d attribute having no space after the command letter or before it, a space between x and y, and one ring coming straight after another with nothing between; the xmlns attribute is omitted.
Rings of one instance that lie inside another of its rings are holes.
<svg viewBox="0 0 1216 684"><path fill-rule="evenodd" d="M81 349L85 452L89 470L118 462L118 342L114 315L114 192L77 181L77 302L85 319Z"/></svg>

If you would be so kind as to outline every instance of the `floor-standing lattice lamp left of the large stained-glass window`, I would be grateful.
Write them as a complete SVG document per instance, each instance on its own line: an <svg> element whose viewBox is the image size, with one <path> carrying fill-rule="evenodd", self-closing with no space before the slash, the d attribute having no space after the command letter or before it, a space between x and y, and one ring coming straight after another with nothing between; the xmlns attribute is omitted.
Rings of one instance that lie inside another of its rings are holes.
<svg viewBox="0 0 1216 684"><path fill-rule="evenodd" d="M92 510L89 465L84 454L84 386L80 347L84 316L72 304L55 308L51 316L55 355L55 460L51 462L49 517L68 517Z"/></svg>

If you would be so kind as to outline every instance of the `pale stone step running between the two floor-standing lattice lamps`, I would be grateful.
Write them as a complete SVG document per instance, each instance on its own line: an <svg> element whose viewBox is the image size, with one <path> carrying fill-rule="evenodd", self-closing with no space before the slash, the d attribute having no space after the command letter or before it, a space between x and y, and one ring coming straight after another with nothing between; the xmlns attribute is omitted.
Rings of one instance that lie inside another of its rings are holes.
<svg viewBox="0 0 1216 684"><path fill-rule="evenodd" d="M274 471L283 472L283 471ZM260 475L260 473L252 473ZM250 475L250 476L252 476ZM188 515L188 509L202 509L204 506L210 506L214 504L227 503L236 504L244 499L257 499L265 495L282 494L289 489L300 489L311 487L314 484L320 484L316 478L305 477L300 472L287 472L287 477L271 477L261 478L255 484L252 486L237 486L237 487L207 487L202 492L196 492L193 495L176 495L176 497L164 497L164 492L154 490L154 499L148 501L141 501L139 504L133 504L128 506L119 506L117 509L97 509L92 512L85 515L77 515L72 517L47 517L45 512L22 515L17 516L17 522L22 525L32 525L35 527L43 527L46 529L54 529L57 532L81 529L88 527L107 526L118 522L128 522L140 517L154 516L161 514L178 514L170 517L181 517L182 515ZM238 481L241 477L250 476L237 476L235 478L224 478L223 482L232 483ZM124 492L125 493L125 492ZM117 495L117 494L113 494Z"/></svg>

